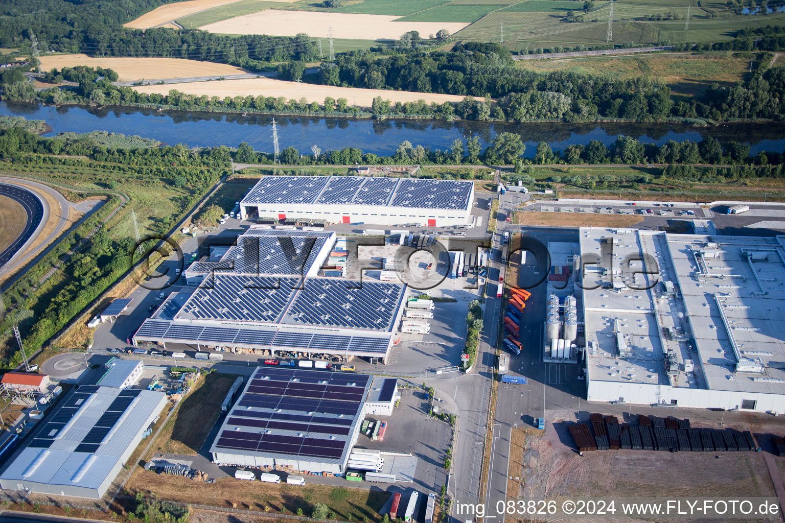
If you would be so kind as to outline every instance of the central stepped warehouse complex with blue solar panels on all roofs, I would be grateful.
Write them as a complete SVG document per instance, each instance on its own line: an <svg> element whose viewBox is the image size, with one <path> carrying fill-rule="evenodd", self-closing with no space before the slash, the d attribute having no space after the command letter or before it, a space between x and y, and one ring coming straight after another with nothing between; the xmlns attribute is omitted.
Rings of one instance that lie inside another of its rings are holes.
<svg viewBox="0 0 785 523"><path fill-rule="evenodd" d="M189 267L199 288L171 294L133 343L386 361L406 285L312 276L334 242L333 232L246 231L211 267Z"/></svg>

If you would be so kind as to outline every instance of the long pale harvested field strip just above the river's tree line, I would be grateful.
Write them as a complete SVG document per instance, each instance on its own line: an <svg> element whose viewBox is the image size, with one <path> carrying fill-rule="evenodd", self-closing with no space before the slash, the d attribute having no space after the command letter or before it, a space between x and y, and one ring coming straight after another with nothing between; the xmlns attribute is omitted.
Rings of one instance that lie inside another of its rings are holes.
<svg viewBox="0 0 785 523"><path fill-rule="evenodd" d="M376 96L392 102L413 102L425 100L427 103L459 102L463 96L436 93L414 93L412 91L391 91L389 89L360 89L356 87L336 87L334 85L314 85L298 82L285 82L273 78L245 78L242 80L219 80L217 82L185 82L177 85L142 85L134 87L140 93L168 94L170 89L196 96L284 96L287 100L305 98L310 102L322 104L326 96L334 99L345 98L349 105L371 107ZM477 98L477 100L482 100Z"/></svg>

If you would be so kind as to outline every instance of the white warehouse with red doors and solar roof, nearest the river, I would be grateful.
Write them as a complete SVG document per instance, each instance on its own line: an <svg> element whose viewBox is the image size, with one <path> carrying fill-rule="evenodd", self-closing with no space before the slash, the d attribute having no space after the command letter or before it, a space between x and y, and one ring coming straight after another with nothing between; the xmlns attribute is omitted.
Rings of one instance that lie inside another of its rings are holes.
<svg viewBox="0 0 785 523"><path fill-rule="evenodd" d="M240 216L445 227L469 223L473 199L471 181L264 176L240 202Z"/></svg>

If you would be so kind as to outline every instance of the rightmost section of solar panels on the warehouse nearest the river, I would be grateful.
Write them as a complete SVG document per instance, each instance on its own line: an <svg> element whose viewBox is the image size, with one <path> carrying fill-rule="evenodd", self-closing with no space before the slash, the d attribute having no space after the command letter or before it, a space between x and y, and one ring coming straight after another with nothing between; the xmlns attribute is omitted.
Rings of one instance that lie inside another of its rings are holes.
<svg viewBox="0 0 785 523"><path fill-rule="evenodd" d="M472 182L456 180L401 180L389 205L426 209L466 209Z"/></svg>

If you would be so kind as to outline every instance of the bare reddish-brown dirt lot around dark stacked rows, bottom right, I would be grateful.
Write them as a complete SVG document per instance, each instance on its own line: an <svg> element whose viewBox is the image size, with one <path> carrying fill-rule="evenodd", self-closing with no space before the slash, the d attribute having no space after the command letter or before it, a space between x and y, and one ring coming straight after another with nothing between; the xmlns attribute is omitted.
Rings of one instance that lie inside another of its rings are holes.
<svg viewBox="0 0 785 523"><path fill-rule="evenodd" d="M662 416L668 414L670 412ZM586 423L588 413L582 412L582 416L581 422ZM692 427L718 428L717 423L691 419ZM546 412L545 435L542 438L527 436L522 456L522 498L776 496L763 452L612 450L585 452L581 457L573 448L567 428L568 423L575 421L574 412ZM623 421L619 417L619 422ZM726 424L737 430L770 430L756 425L750 427L748 423ZM520 459L519 452L513 449L510 455L510 475L513 475L513 463Z"/></svg>

